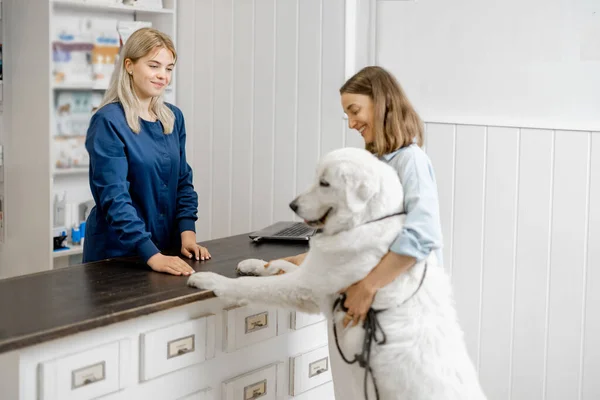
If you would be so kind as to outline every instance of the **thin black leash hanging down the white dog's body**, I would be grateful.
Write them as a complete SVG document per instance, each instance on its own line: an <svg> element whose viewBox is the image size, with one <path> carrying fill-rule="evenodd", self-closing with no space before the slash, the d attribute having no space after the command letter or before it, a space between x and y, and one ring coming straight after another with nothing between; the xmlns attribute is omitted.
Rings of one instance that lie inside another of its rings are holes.
<svg viewBox="0 0 600 400"><path fill-rule="evenodd" d="M385 218L393 217L395 215L402 215L402 214L404 214L404 212L386 215L384 217L381 217L381 218L378 218L378 219L375 219L375 220L372 220L369 222L380 221ZM367 222L367 223L369 223L369 222ZM427 275L427 263L425 263L425 265L423 267L423 276L421 277L419 286L417 286L417 288L415 289L413 294L411 294L408 298L406 298L399 305L399 307L404 305L407 301L412 299L417 294L417 292L421 289L421 286L423 286L423 282L425 281L426 275ZM340 296L338 296L338 298L333 303L332 311L334 314L335 314L336 308L338 308L338 306L344 313L348 312L348 308L346 306L344 306L345 301L346 301L346 293L342 293ZM371 345L373 344L373 342L375 342L376 344L385 344L385 342L386 342L385 332L383 331L383 328L381 328L379 319L377 319L377 314L379 314L382 311L386 311L386 309L375 310L375 309L373 309L373 307L369 308L369 311L367 312L365 321L363 322L363 329L365 330L365 338L363 339L362 352L360 354L355 354L353 360L349 360L348 358L346 358L346 356L342 352L342 349L340 347L340 343L338 340L338 335L337 335L337 327L336 327L337 324L335 323L335 321L333 322L333 336L335 338L335 345L336 345L338 351L340 352L340 356L342 356L342 359L347 364L354 364L354 363L358 362L358 365L361 368L365 369L365 378L364 378L364 383L363 383L364 392L365 392L365 400L369 400L369 393L367 390L367 380L368 380L369 375L371 375L371 380L373 382L373 388L375 389L375 399L379 400L379 389L377 388L377 381L375 379L375 375L373 375L373 369L371 368ZM381 334L380 337L378 337L379 333Z"/></svg>

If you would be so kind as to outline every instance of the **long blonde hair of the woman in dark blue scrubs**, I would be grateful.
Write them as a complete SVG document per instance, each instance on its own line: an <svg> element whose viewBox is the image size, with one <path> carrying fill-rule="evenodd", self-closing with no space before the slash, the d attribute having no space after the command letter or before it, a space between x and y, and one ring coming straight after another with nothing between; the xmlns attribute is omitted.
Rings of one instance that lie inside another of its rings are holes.
<svg viewBox="0 0 600 400"><path fill-rule="evenodd" d="M173 59L177 59L175 46L168 35L153 28L141 28L135 31L121 49L119 61L115 65L110 85L104 94L102 103L98 107L101 108L110 103L121 103L123 110L125 110L127 125L135 133L140 132L140 101L133 89L133 77L127 73L125 68L125 60L130 59L135 63L157 48L169 50L173 53ZM162 95L152 98L150 109L162 123L163 132L165 134L172 133L173 125L175 124L175 114L165 105Z"/></svg>

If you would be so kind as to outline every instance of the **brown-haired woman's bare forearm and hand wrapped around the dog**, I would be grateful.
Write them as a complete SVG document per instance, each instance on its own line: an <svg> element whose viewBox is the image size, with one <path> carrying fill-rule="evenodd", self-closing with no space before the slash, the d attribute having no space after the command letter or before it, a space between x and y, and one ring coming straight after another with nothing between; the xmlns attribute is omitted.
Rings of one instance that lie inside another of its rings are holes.
<svg viewBox="0 0 600 400"><path fill-rule="evenodd" d="M381 258L363 280L342 290L346 293L344 306L348 309L344 317L344 327L352 322L353 326L363 322L373 304L377 291L396 279L401 273L415 265L414 257L396 254L389 251Z"/></svg>

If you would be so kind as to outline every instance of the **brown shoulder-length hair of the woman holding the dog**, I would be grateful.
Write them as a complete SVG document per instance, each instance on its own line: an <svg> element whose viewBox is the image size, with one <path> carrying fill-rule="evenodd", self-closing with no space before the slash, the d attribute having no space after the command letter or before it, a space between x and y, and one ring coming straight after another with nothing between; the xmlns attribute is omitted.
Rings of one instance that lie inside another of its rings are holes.
<svg viewBox="0 0 600 400"><path fill-rule="evenodd" d="M423 145L423 121L396 78L381 67L365 67L344 83L340 94L361 94L373 101L374 139L366 149L382 156L416 141Z"/></svg>

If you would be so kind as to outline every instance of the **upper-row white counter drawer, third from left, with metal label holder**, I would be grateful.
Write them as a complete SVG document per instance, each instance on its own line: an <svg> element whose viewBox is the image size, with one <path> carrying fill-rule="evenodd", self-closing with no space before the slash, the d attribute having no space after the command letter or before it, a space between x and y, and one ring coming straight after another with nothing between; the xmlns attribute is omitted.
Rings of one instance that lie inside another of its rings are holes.
<svg viewBox="0 0 600 400"><path fill-rule="evenodd" d="M233 307L223 312L223 350L226 352L277 336L276 308Z"/></svg>

